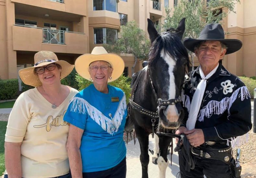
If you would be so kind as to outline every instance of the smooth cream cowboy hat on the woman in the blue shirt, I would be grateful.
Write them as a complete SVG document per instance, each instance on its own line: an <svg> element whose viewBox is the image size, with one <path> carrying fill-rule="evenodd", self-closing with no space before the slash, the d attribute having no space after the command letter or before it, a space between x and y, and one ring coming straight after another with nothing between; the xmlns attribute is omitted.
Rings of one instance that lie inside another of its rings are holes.
<svg viewBox="0 0 256 178"><path fill-rule="evenodd" d="M124 61L123 59L112 53L108 53L103 47L95 47L91 54L83 54L76 59L75 68L76 72L81 75L83 78L90 80L91 76L89 73L89 65L94 61L106 61L110 63L113 68L111 79L108 79L108 82L113 82L118 79L124 70Z"/></svg>

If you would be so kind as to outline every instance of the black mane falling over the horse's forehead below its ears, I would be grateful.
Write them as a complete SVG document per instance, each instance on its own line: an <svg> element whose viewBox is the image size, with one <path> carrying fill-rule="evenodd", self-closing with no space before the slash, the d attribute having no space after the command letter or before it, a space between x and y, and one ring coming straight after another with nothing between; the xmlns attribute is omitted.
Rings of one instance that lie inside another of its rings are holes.
<svg viewBox="0 0 256 178"><path fill-rule="evenodd" d="M151 45L148 62L151 63L155 59L160 58L161 50L164 49L164 55L167 52L175 60L178 60L180 57L185 58L187 61L187 69L189 69L190 61L188 52L180 38L172 31L176 32L176 30L168 29L166 32L158 35Z"/></svg>

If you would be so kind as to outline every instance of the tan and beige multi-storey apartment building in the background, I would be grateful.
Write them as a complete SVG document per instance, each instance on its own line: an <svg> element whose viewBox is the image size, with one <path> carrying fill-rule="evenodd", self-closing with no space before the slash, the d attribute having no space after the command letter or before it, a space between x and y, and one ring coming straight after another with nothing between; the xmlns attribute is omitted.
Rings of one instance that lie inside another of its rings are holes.
<svg viewBox="0 0 256 178"><path fill-rule="evenodd" d="M33 65L37 51L50 50L61 60L74 63L95 46L118 38L120 26L135 20L146 31L147 18L158 28L165 6L175 8L180 0L0 0L0 77L18 78L17 71ZM206 0L209 1L209 0ZM235 13L223 18L226 38L240 39L243 48L227 55L223 65L236 75L256 75L255 0L241 0ZM225 7L222 11L227 12ZM134 57L121 54L124 73L131 77ZM135 71L142 68L142 61ZM195 61L195 66L199 65Z"/></svg>

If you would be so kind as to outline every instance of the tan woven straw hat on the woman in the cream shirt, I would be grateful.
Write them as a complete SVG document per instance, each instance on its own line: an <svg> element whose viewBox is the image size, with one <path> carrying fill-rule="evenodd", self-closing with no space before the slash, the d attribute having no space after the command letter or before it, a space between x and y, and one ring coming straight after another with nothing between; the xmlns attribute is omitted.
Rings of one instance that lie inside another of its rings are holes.
<svg viewBox="0 0 256 178"><path fill-rule="evenodd" d="M33 67L27 67L19 70L19 77L23 83L34 87L41 86L42 83L39 80L38 74L34 72L36 67L49 65L51 63L59 64L62 67L61 79L65 78L72 70L74 65L71 65L67 61L58 60L55 53L51 51L39 51L34 56L35 65Z"/></svg>

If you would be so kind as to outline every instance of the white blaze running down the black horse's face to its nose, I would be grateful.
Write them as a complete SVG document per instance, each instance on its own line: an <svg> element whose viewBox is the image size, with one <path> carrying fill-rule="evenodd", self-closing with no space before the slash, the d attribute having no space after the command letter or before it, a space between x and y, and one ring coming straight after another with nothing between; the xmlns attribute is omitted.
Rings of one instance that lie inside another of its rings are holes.
<svg viewBox="0 0 256 178"><path fill-rule="evenodd" d="M169 56L169 54L166 52L164 55L164 50L161 51L161 57L166 61L166 63L169 65L169 87L166 87L167 92L169 93L169 99L174 99L175 98L175 93L176 93L176 89L175 89L175 81L174 81L174 74L173 74L173 69L174 66L176 64L176 62L174 61L174 59L171 58L171 56ZM179 112L177 110L177 108L175 107L175 105L169 105L166 109L166 111L164 111L164 114L166 116L166 118L169 120L169 122L177 122L179 119Z"/></svg>

